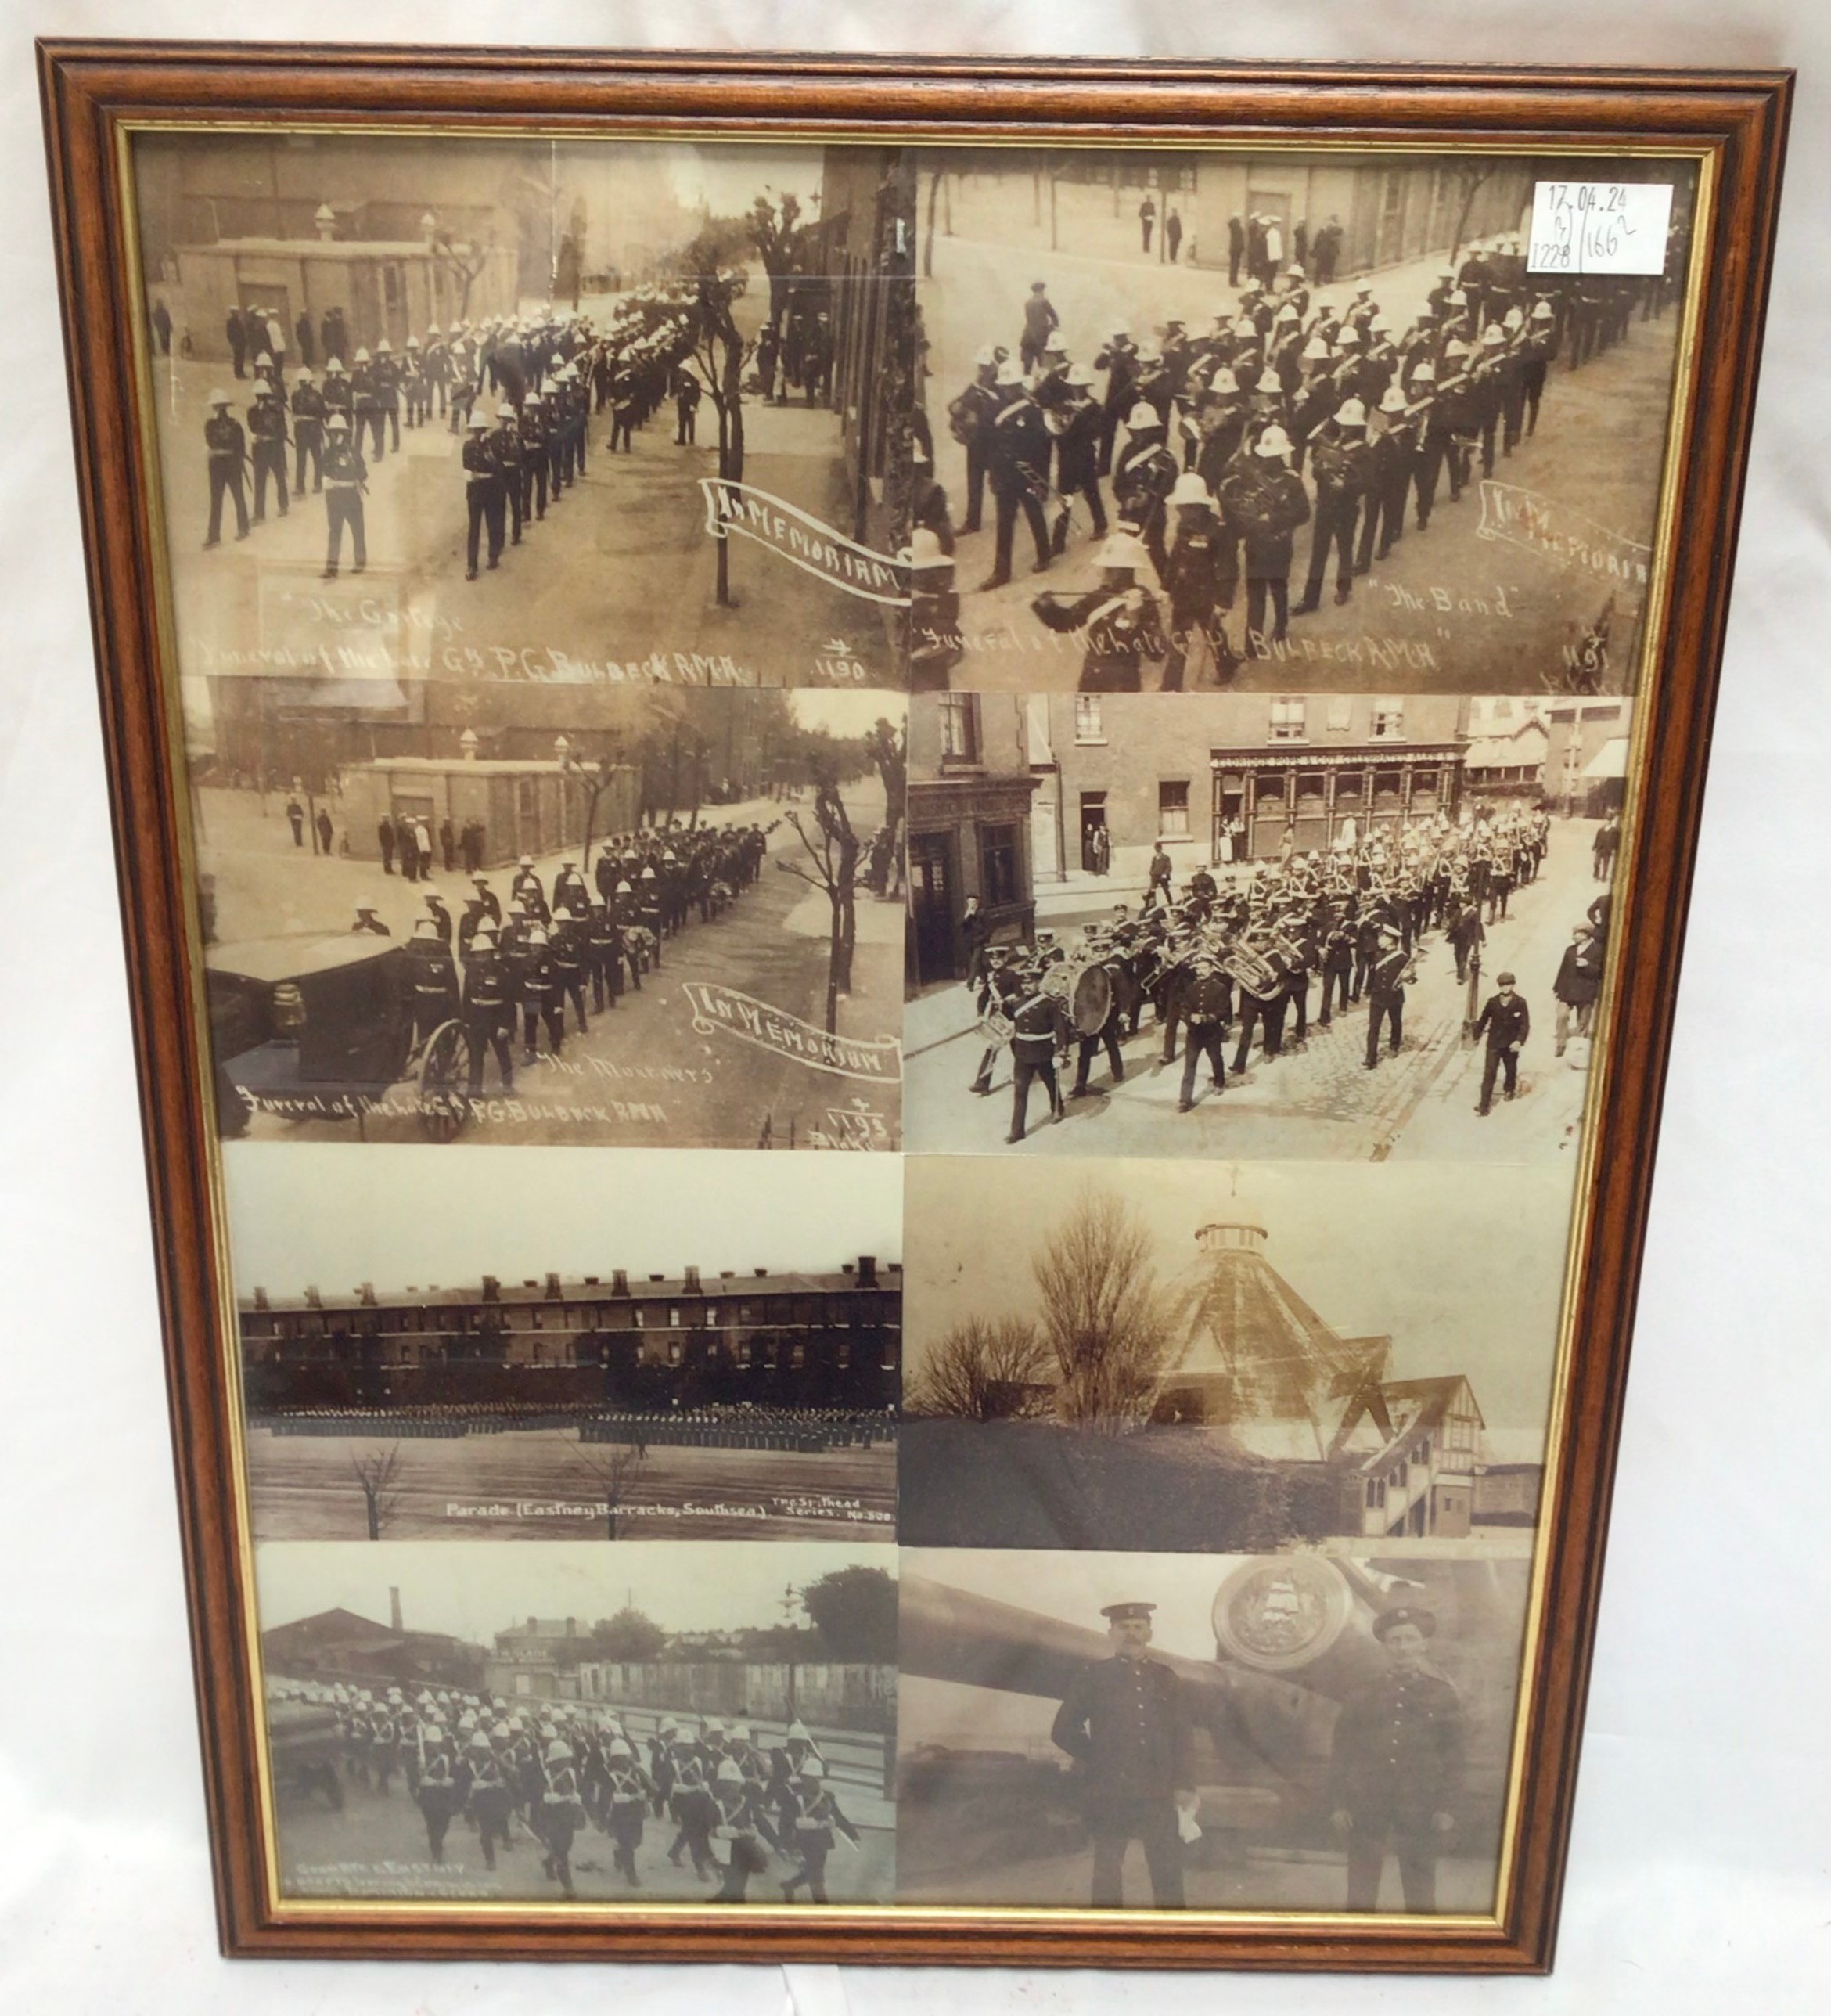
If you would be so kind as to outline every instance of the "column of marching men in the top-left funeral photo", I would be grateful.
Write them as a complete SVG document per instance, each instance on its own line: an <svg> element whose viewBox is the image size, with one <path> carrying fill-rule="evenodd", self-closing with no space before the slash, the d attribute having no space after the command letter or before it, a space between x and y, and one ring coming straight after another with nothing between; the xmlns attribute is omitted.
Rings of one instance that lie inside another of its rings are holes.
<svg viewBox="0 0 1831 2016"><path fill-rule="evenodd" d="M742 286L740 274L724 274ZM236 512L236 538L266 520L266 494L288 514L304 496L325 496L325 579L343 564L345 534L351 571L367 566L363 500L369 470L401 452L401 431L446 419L462 435L460 468L466 494L466 579L502 564L528 524L546 518L548 504L585 476L589 421L611 409L609 448L633 448L635 429L672 401L676 439L696 442L702 385L690 365L696 341L694 286L641 286L619 300L599 327L589 314L540 314L458 321L448 331L428 327L399 351L389 339L349 347L341 310L327 310L315 333L298 319L302 363L286 383L280 325L256 308L228 321L234 375L254 373L252 403L236 417L230 393L208 399L204 454L210 476L206 548L222 540L222 508ZM313 357L323 349L323 379ZM345 365L349 357L349 365ZM288 484L288 450L292 452ZM252 512L250 512L252 488Z"/></svg>

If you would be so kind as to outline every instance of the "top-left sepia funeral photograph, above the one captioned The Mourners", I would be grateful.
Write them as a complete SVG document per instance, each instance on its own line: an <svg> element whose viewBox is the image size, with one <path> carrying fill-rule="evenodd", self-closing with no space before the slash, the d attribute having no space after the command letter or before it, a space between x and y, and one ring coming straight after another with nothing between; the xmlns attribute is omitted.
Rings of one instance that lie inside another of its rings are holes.
<svg viewBox="0 0 1831 2016"><path fill-rule="evenodd" d="M139 133L184 671L901 685L901 161Z"/></svg>

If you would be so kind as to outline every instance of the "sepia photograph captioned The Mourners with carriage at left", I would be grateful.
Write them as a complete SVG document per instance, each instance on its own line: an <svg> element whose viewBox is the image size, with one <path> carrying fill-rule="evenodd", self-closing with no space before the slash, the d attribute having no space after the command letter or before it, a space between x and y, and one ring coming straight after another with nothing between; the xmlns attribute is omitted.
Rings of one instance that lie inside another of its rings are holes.
<svg viewBox="0 0 1831 2016"><path fill-rule="evenodd" d="M184 696L228 1137L899 1143L899 694Z"/></svg>

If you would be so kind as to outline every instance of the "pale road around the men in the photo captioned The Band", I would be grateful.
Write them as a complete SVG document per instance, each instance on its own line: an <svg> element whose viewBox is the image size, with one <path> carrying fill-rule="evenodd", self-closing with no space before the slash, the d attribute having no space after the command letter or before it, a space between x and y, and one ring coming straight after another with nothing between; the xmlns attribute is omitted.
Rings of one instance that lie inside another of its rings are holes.
<svg viewBox="0 0 1831 2016"><path fill-rule="evenodd" d="M1099 210L1103 192L1061 190L1061 202L1087 202ZM1000 228L1000 218L1006 220ZM1022 300L1030 280L1049 284L1073 355L1093 363L1107 331L1127 323L1133 341L1153 335L1168 314L1192 331L1208 327L1216 308L1234 300L1226 274L1188 266L1157 266L1113 242L1111 220L1091 218L1103 230L1083 230L1067 218L1059 232L1063 250L1051 252L1047 236L1030 226L1030 190L1006 183L1002 210L986 196L956 206L960 236L938 238L936 284L924 292L924 325L932 343L928 405L936 419L936 476L952 502L956 524L966 516L966 452L946 425L946 403L972 375L974 353L984 343L1016 349ZM1101 250L1079 250L1083 244ZM1022 246L1014 256L1014 248ZM1440 260L1416 260L1371 276L1375 298L1395 329L1412 321L1436 280ZM1347 286L1333 288L1337 300ZM1633 617L1643 587L1607 573L1611 554L1631 558L1652 538L1656 490L1664 464L1666 423L1678 314L1633 323L1625 345L1587 363L1581 371L1553 367L1539 431L1514 456L1498 460L1494 480L1545 500L1567 532L1593 548L1593 564L1553 556L1541 540L1533 546L1492 528L1504 496L1484 504L1478 492L1450 506L1448 490L1430 528L1418 532L1408 518L1406 536L1385 562L1355 583L1345 607L1333 603L1333 579L1323 607L1293 619L1289 649L1244 665L1234 687L1315 691L1353 687L1371 691L1531 691L1547 689L1563 665L1563 649L1597 617L1603 601L1617 597L1613 667L1609 685L1627 683ZM1103 375L1101 375L1103 377ZM1095 385L1099 391L1099 383ZM1111 488L1105 486L1111 512ZM958 587L962 633L972 649L956 669L956 687L1065 689L1079 677L1081 651L1073 637L1045 631L1030 613L1039 589L1081 593L1095 585L1097 550L1085 506L1067 554L1047 575L1032 575L1034 550L1018 520L1014 581L976 593L992 569L992 518L986 530L960 540ZM1303 593L1309 566L1309 532L1297 536L1291 601ZM1230 619L1240 643L1244 607ZM1157 673L1145 673L1153 689ZM1202 663L1192 685L1214 685Z"/></svg>

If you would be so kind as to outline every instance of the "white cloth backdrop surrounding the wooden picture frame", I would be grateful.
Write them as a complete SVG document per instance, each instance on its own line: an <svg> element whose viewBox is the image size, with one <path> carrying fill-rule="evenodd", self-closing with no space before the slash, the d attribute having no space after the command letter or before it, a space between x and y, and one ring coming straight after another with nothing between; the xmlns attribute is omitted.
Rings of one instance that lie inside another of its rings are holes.
<svg viewBox="0 0 1831 2016"><path fill-rule="evenodd" d="M0 44L0 2008L1194 2016L1821 2010L1831 486L1823 0L12 0ZM30 34L1805 73L1559 1970L1401 1982L216 1958Z"/></svg>

